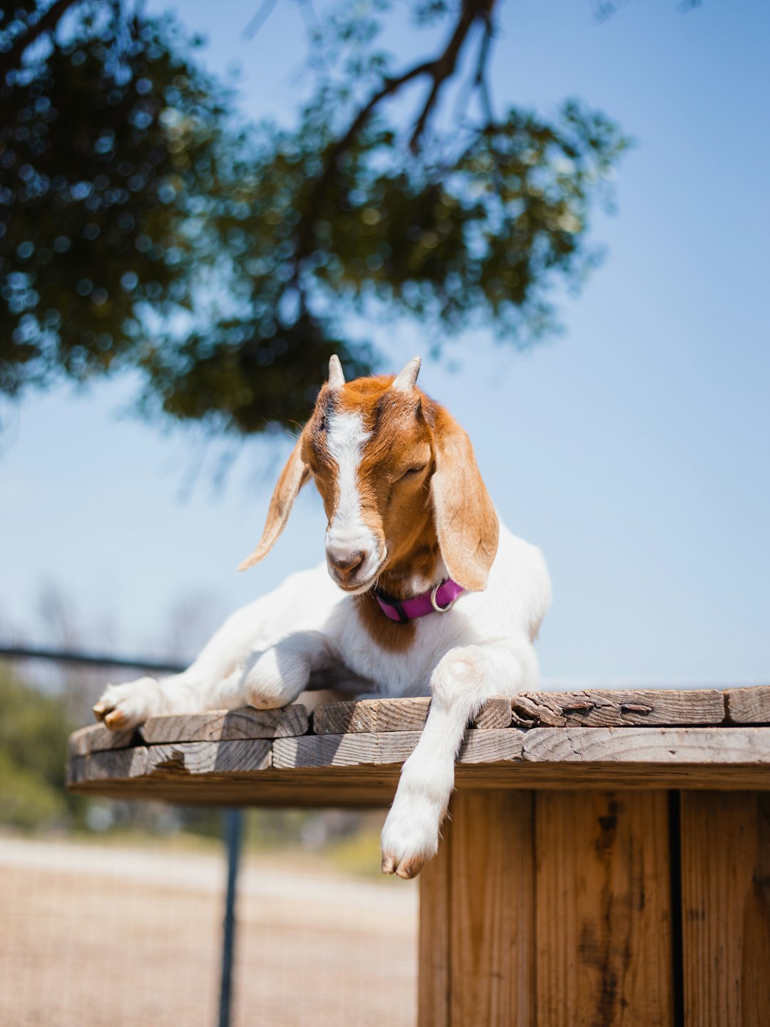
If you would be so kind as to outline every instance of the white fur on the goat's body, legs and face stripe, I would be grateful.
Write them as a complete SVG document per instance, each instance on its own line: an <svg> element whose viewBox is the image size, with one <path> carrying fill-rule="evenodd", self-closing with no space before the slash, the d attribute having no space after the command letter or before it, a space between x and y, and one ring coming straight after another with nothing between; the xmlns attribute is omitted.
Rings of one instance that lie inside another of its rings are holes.
<svg viewBox="0 0 770 1027"><path fill-rule="evenodd" d="M360 433L352 421L343 422L337 439L336 459L349 485ZM346 523L353 525L354 501L348 510ZM322 564L293 574L234 613L183 674L111 685L101 702L117 715L111 726L122 727L156 714L285 706L311 676L314 687L333 681L370 697L432 693L382 833L383 869L412 876L436 850L469 718L492 695L537 685L533 642L550 603L550 581L540 550L500 525L487 588L461 596L448 613L416 620L406 652L376 646L352 602Z"/></svg>

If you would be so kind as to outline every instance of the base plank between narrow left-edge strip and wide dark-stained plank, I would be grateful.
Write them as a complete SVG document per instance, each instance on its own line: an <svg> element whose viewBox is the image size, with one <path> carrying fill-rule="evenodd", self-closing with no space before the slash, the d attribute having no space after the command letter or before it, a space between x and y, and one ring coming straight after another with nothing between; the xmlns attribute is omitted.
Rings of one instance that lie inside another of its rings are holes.
<svg viewBox="0 0 770 1027"><path fill-rule="evenodd" d="M533 830L532 793L452 800L451 1027L535 1020Z"/></svg>

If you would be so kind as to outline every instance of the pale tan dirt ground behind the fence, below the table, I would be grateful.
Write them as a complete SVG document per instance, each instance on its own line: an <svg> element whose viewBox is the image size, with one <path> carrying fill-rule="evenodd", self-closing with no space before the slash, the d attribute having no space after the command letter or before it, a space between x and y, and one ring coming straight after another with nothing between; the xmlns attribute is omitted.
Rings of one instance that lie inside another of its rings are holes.
<svg viewBox="0 0 770 1027"><path fill-rule="evenodd" d="M224 859L0 838L2 1027L215 1027ZM244 862L234 1027L408 1027L417 889Z"/></svg>

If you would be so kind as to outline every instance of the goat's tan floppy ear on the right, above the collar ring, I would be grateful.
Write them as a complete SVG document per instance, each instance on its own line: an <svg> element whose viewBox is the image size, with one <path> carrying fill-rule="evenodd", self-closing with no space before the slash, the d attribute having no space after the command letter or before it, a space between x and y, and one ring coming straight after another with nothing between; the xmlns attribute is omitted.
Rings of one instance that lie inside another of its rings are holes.
<svg viewBox="0 0 770 1027"><path fill-rule="evenodd" d="M497 512L465 431L446 411L435 427L430 489L438 546L452 578L482 592L497 554Z"/></svg>

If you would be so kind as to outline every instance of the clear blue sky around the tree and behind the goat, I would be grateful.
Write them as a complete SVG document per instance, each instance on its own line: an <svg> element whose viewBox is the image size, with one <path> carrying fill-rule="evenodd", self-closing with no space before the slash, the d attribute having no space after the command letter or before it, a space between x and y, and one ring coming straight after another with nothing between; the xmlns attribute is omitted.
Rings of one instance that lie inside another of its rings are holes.
<svg viewBox="0 0 770 1027"><path fill-rule="evenodd" d="M302 22L280 0L246 41L257 7L179 10L208 37L210 67L241 66L248 116L285 116ZM498 102L551 111L579 97L637 146L617 216L595 221L607 259L563 304L565 333L525 355L466 336L449 350L460 371L428 362L421 384L469 431L505 523L546 555L546 679L770 681L770 9L636 0L603 25L575 0L502 11ZM405 63L421 51L392 38ZM392 370L426 348L409 326L374 331ZM124 416L133 394L124 379L0 407L0 635L48 641L38 606L52 582L84 641L101 648L112 622L111 645L144 651L180 601L214 626L321 558L306 490L270 557L237 575L287 449L247 443L218 489L205 467L221 451Z"/></svg>

